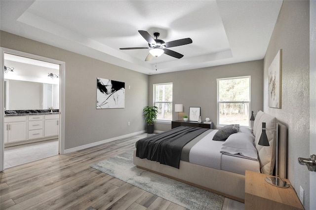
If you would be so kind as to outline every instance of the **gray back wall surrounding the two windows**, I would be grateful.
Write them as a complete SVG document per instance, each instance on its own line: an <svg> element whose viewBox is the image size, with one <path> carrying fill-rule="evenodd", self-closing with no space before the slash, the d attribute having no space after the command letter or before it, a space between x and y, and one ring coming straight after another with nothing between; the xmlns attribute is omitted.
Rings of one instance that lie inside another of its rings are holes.
<svg viewBox="0 0 316 210"><path fill-rule="evenodd" d="M216 79L248 75L251 76L250 110L256 112L263 109L263 60L150 75L148 104L153 105L153 84L173 82L173 108L174 104L183 104L184 113L189 115L190 106L201 107L202 120L209 117L216 126ZM181 113L180 117L184 113ZM178 113L173 112L173 120L177 119ZM170 124L155 124L155 130L169 129Z"/></svg>

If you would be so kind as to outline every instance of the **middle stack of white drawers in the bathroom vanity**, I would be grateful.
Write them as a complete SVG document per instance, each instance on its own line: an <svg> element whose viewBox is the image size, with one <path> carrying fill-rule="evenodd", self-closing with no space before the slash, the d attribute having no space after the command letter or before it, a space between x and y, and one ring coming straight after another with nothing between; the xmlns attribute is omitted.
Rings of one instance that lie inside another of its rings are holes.
<svg viewBox="0 0 316 210"><path fill-rule="evenodd" d="M39 139L43 137L43 115L29 115L28 139Z"/></svg>

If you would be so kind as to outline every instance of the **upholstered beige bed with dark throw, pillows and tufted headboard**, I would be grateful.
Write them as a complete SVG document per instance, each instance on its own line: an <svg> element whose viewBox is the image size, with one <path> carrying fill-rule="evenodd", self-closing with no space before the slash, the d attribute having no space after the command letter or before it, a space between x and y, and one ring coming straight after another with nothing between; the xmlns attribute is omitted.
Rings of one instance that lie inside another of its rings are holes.
<svg viewBox="0 0 316 210"><path fill-rule="evenodd" d="M262 122L266 122L266 133L270 146L258 145L262 133ZM178 127L178 130L181 129L186 130L187 128ZM236 130L236 127L234 129ZM158 135L172 136L174 135L170 134L172 130ZM245 171L273 175L276 160L276 140L278 139L278 175L286 178L287 130L286 126L277 122L275 117L259 111L252 132L248 128L239 127L237 132L225 134L228 135L226 140L213 140L214 136L220 132L222 129L206 129L192 140L190 138L185 140L180 151L179 164L171 163L172 166L166 163L168 160L164 160L164 157L168 155L163 153L164 150L170 153L170 148L158 150L158 152L162 152L159 153L162 160L151 160L149 156L157 156L157 152L154 155L145 154L147 157L144 158L141 155L140 147L140 142L143 140L139 140L136 143L137 149L134 151L134 164L138 168L244 202ZM162 137L162 139L164 138ZM150 138L146 138L146 140L152 142ZM159 144L161 144L160 141ZM153 146L154 144L147 143L146 146L148 147L148 145ZM171 147L173 148L173 145ZM176 157L171 155L169 159L176 159ZM157 161L161 161L162 164Z"/></svg>

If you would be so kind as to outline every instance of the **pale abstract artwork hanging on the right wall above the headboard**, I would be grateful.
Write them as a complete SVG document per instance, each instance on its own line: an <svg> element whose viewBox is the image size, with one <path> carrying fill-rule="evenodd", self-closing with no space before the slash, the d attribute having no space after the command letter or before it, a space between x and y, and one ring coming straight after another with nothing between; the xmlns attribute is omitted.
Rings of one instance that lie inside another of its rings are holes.
<svg viewBox="0 0 316 210"><path fill-rule="evenodd" d="M282 49L276 53L276 57L269 67L268 74L268 105L272 108L281 108Z"/></svg>

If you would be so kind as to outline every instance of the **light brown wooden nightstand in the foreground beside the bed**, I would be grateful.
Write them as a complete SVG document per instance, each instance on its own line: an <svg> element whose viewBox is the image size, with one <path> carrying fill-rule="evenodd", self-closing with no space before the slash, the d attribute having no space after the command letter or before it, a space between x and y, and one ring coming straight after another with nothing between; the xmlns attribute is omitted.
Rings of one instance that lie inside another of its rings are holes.
<svg viewBox="0 0 316 210"><path fill-rule="evenodd" d="M246 171L245 210L304 210L292 186L273 186L265 181L266 176ZM288 179L284 180L290 184Z"/></svg>

